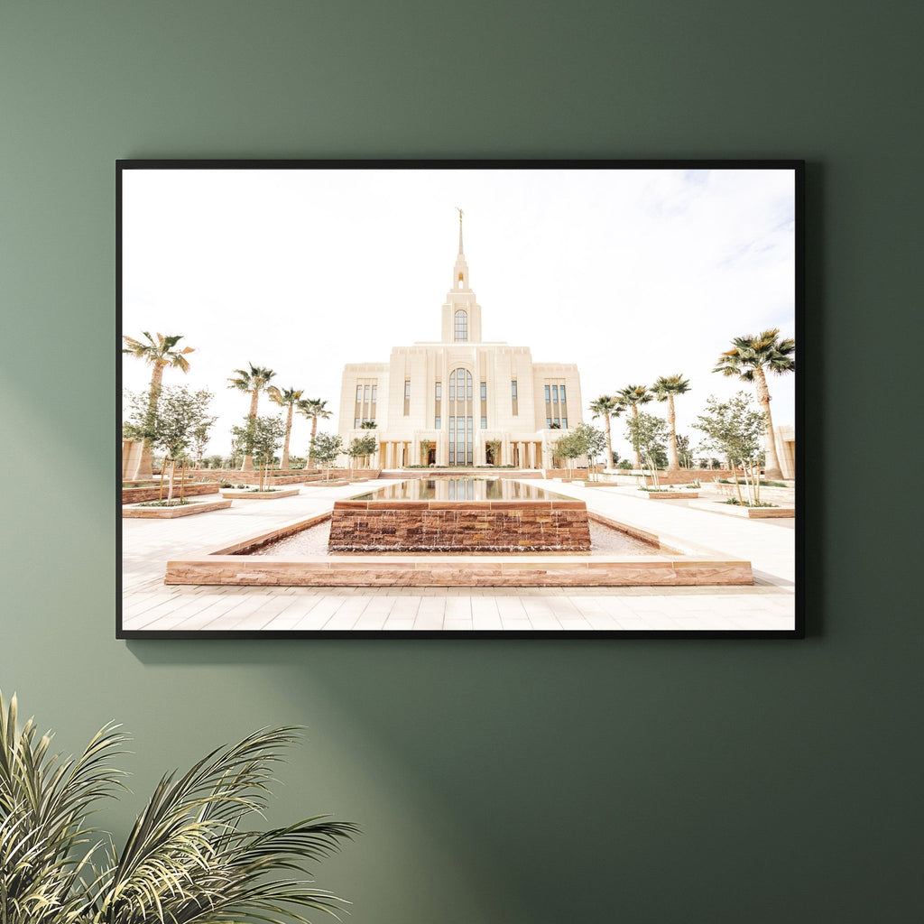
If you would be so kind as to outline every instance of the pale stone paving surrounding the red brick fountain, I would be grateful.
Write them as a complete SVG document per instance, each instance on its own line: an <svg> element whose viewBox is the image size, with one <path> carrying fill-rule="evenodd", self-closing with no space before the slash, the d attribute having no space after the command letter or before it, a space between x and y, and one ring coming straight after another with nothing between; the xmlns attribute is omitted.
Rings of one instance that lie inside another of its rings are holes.
<svg viewBox="0 0 924 924"><path fill-rule="evenodd" d="M394 483L394 482L391 482ZM767 630L795 625L792 519L746 520L650 501L631 487L532 481L661 536L748 559L753 587L264 588L165 586L168 558L330 510L367 484L302 486L175 520L123 519L123 628L146 631Z"/></svg>

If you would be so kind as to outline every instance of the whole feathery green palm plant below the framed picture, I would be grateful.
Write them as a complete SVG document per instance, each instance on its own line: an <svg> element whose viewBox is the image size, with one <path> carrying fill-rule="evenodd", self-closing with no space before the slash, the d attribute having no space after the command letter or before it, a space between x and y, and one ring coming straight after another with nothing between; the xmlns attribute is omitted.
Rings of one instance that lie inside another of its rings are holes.
<svg viewBox="0 0 924 924"><path fill-rule="evenodd" d="M0 921L4 924L291 924L345 902L308 867L357 833L327 816L254 830L274 764L298 737L262 729L164 774L117 848L88 823L126 787L113 766L128 740L103 727L78 757L51 751L17 699L0 697ZM293 872L296 878L292 878Z"/></svg>

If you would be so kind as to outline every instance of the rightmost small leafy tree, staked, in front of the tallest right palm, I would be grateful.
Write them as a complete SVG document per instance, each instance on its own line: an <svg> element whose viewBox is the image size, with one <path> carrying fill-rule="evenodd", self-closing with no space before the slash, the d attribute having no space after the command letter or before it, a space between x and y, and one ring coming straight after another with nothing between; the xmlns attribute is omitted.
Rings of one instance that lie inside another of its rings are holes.
<svg viewBox="0 0 924 924"><path fill-rule="evenodd" d="M710 395L705 412L693 426L705 434L699 445L701 451L720 453L728 460L728 467L735 473L735 487L738 501L744 504L736 473L740 465L745 472L745 486L748 491L748 505L760 502L760 460L763 457L763 438L767 416L758 410L747 392L738 392L726 401ZM750 472L750 478L748 478ZM751 482L754 493L752 495Z"/></svg>

